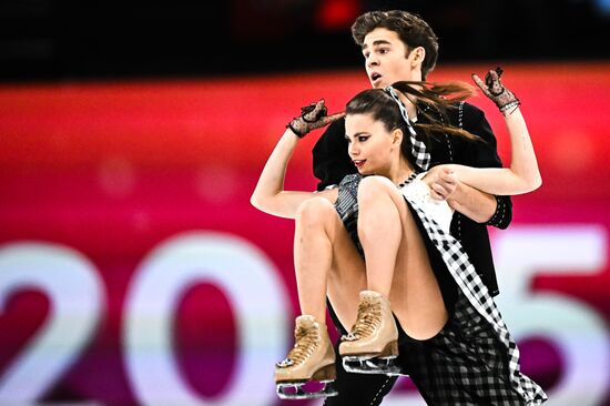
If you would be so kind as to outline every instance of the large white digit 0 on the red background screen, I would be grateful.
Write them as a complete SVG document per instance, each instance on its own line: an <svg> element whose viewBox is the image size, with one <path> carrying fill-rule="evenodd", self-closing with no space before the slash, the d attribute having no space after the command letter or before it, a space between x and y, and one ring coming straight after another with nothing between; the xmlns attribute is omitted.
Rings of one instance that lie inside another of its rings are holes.
<svg viewBox="0 0 610 406"><path fill-rule="evenodd" d="M273 367L287 346L289 308L277 275L261 251L227 234L190 233L155 248L136 270L126 296L125 363L138 400L146 405L272 404ZM172 351L177 304L197 282L214 284L226 294L238 331L236 373L228 389L214 400L201 398L183 383Z"/></svg>

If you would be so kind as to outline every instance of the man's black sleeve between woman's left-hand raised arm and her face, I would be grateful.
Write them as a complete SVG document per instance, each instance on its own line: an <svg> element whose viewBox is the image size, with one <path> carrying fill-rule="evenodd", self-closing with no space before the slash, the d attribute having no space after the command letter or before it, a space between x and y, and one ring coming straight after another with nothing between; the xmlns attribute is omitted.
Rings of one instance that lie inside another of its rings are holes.
<svg viewBox="0 0 610 406"><path fill-rule="evenodd" d="M338 185L346 175L356 172L347 154L345 119L333 122L312 150L314 175L319 180L317 190Z"/></svg>

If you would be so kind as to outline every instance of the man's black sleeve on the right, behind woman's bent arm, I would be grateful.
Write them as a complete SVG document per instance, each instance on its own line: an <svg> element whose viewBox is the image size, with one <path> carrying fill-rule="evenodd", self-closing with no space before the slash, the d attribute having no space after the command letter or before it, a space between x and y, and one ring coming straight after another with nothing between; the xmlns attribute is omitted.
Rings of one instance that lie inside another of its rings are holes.
<svg viewBox="0 0 610 406"><path fill-rule="evenodd" d="M481 138L481 141L470 141L465 149L465 162L476 168L502 168L498 155L496 135L491 131L485 113L472 104L464 104L464 129ZM496 196L496 213L486 223L498 229L506 229L512 221L512 201L510 196Z"/></svg>

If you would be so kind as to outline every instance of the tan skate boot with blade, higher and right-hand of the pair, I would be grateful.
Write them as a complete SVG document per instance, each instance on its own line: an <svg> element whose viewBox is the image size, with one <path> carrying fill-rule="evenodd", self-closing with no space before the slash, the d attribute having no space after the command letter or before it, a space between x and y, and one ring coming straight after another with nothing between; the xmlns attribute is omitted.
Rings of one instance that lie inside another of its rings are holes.
<svg viewBox="0 0 610 406"><path fill-rule="evenodd" d="M380 293L360 292L358 318L342 337L339 354L345 371L362 374L398 375L398 329L389 301Z"/></svg>

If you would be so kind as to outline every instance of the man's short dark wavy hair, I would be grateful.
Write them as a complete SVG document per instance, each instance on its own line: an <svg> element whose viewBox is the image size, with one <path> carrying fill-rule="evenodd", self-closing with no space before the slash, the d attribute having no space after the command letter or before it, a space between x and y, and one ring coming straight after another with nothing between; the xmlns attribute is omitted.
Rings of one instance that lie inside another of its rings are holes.
<svg viewBox="0 0 610 406"><path fill-rule="evenodd" d="M430 26L419 16L403 10L369 11L354 21L352 37L362 47L364 38L377 28L396 32L407 45L407 55L417 47L423 47L426 50L426 58L421 63L421 79L426 80L438 58L438 38Z"/></svg>

